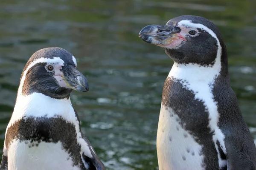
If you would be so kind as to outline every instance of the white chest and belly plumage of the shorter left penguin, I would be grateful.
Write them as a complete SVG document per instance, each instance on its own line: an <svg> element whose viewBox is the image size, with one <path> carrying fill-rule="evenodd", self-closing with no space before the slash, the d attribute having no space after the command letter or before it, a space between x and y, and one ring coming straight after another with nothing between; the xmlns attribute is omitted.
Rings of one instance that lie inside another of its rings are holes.
<svg viewBox="0 0 256 170"><path fill-rule="evenodd" d="M45 119L58 119L58 117L61 117L61 120L63 121L57 122L56 124L61 126L60 128L49 125L47 126L49 129L47 130L51 131L52 134L67 134L65 130L72 129L63 130L63 128L66 128L65 125L69 125L67 127L74 128L73 134L75 134L75 136L63 135L65 139L69 138L69 140L56 138L55 141L58 141L57 143L48 143L44 142L45 140L41 140L38 146L29 147L31 146L30 137L24 137L25 135L22 136L27 133L24 133L24 131L19 132L10 130L10 133L12 134L10 136L12 138L9 140L12 140L12 142L10 142L8 149L4 146L4 150L8 150L8 168L10 170L80 170L80 163L73 166L73 160L70 158L70 153L68 152L79 152L78 154L81 155L81 161L83 163L82 166L88 167L88 164L82 159L82 154L92 158L92 153L90 152L87 142L81 137L79 121L70 99L57 100L38 93L33 93L29 96L19 96L12 118L7 126L6 133L8 133L9 128L12 129L12 125L15 125L18 121L25 119L26 122L26 120L32 119L31 117ZM31 127L30 125L33 126L34 124L29 124L28 127ZM46 130L46 128L37 125L38 124L35 124L35 127L28 128L30 130L32 129L31 134L33 134L38 127ZM22 126L24 127L26 124L22 124ZM19 128L19 130L20 129L22 128ZM41 134L41 131L39 130L36 134ZM20 138L18 138L18 135L13 135L16 133L20 135ZM22 141L19 141L19 139L22 139ZM66 148L62 146L61 142L64 142L63 144ZM81 146L81 150L72 150L72 146L74 145ZM70 150L67 149L67 146Z"/></svg>

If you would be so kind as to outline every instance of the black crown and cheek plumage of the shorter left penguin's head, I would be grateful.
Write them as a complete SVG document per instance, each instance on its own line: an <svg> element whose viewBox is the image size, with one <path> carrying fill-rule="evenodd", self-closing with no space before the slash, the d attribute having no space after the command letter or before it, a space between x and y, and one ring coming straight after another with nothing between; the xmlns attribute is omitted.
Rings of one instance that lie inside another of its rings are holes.
<svg viewBox="0 0 256 170"><path fill-rule="evenodd" d="M59 57L63 60L63 68L67 67L67 65L72 65L74 68L76 67L76 63L73 61L73 55L65 49L44 48L36 51L30 57L23 69L21 77L23 77L24 72L33 61L41 58L53 59L54 57ZM54 71L47 71L45 69L46 65L47 62L39 62L29 68L26 72L26 78L24 79L21 93L26 96L34 92L38 92L55 99L68 98L72 89L60 87L56 79L53 77Z"/></svg>

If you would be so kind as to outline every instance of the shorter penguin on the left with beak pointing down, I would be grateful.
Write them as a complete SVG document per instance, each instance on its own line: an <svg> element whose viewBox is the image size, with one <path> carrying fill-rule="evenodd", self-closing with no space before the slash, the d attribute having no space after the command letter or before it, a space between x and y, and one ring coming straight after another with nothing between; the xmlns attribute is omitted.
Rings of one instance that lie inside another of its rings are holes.
<svg viewBox="0 0 256 170"><path fill-rule="evenodd" d="M0 170L105 170L70 101L89 90L63 48L44 48L28 60L6 128Z"/></svg>

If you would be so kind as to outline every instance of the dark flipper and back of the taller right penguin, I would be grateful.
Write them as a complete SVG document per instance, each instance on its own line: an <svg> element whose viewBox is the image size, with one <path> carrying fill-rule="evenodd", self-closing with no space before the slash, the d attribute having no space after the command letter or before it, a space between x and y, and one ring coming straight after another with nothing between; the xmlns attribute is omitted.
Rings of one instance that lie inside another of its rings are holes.
<svg viewBox="0 0 256 170"><path fill-rule="evenodd" d="M255 170L256 148L241 114L236 94L230 87L229 79L218 79L215 83L213 93L220 115L218 126L225 136L226 147L226 150L218 147L221 158L227 160L227 170Z"/></svg>

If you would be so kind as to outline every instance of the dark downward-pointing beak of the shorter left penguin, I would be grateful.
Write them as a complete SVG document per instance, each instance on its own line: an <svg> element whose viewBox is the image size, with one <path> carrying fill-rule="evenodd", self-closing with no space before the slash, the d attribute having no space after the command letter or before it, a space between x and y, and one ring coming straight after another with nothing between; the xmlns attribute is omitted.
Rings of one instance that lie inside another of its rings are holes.
<svg viewBox="0 0 256 170"><path fill-rule="evenodd" d="M63 68L62 79L66 82L68 88L76 91L89 91L87 79L73 65L67 65Z"/></svg>

